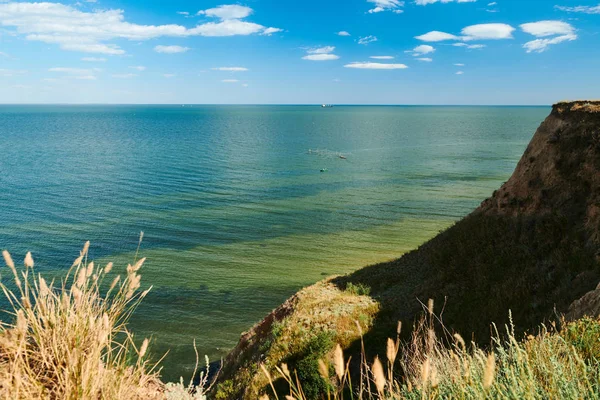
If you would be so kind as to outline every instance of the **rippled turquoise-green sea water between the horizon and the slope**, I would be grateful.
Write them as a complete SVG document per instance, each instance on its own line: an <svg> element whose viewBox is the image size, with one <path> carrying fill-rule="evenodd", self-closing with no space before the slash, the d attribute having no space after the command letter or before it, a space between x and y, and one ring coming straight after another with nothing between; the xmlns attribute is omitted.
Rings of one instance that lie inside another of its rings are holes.
<svg viewBox="0 0 600 400"><path fill-rule="evenodd" d="M91 240L94 259L124 268L144 231L154 289L132 328L170 349L177 379L194 339L218 359L300 287L395 258L467 214L548 112L0 106L0 247L56 274Z"/></svg>

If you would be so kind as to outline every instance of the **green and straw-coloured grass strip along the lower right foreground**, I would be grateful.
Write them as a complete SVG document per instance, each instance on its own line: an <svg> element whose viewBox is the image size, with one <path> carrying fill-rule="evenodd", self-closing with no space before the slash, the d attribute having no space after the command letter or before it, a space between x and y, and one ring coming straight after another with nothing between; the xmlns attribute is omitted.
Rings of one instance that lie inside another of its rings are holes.
<svg viewBox="0 0 600 400"><path fill-rule="evenodd" d="M600 398L600 359L597 352L590 355L590 349L598 348L597 320L577 321L561 332L542 327L537 336L523 341L518 341L514 329L507 327L505 334L496 333L488 350L465 343L460 335L450 335L443 327L444 334L437 337L436 324L439 320L428 314L415 326L408 343L389 339L385 368L378 357L367 362L363 352L357 382L352 382L350 360L344 360L343 355L340 360L336 351L336 374L329 373L327 360L319 363L324 365L323 379L330 384L316 397L307 396L295 371L282 366L277 369L278 376L267 377L270 382L283 378L289 393L274 393L272 389L263 399ZM574 337L573 332L577 332ZM345 366L341 374L340 365ZM395 368L399 373L394 372Z"/></svg>

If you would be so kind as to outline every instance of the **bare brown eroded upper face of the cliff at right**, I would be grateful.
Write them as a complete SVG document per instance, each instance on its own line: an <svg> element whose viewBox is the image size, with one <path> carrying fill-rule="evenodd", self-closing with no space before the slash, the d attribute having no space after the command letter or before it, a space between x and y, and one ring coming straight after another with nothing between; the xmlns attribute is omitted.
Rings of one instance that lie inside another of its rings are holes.
<svg viewBox="0 0 600 400"><path fill-rule="evenodd" d="M600 102L559 103L542 123L512 177L480 211L506 216L558 214L600 237Z"/></svg>

